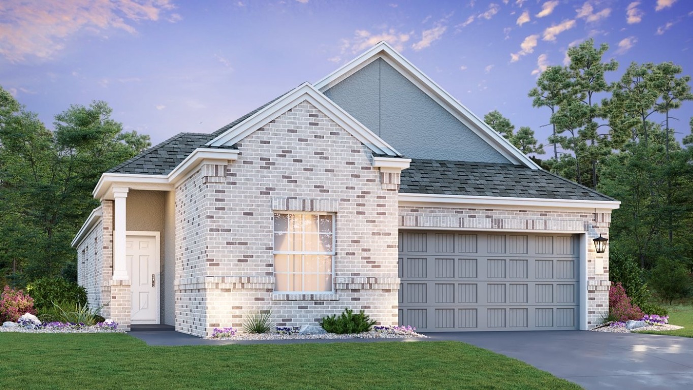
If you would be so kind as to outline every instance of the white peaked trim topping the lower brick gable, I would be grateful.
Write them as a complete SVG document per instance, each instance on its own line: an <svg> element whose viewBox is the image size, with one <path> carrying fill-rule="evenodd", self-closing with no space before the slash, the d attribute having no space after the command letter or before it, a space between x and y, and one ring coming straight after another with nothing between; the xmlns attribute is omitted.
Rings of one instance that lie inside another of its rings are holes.
<svg viewBox="0 0 693 390"><path fill-rule="evenodd" d="M337 125L343 127L350 134L356 137L361 143L367 145L368 148L376 153L387 154L389 156L400 155L391 145L383 141L374 132L371 132L365 125L360 123L356 118L351 116L339 107L335 105L332 100L329 100L313 87L313 85L304 82L304 84L299 85L296 89L290 93L282 96L274 103L268 105L267 107L256 112L253 116L250 116L242 123L234 126L227 132L220 134L216 139L213 139L207 143L208 146L222 146L222 145L233 145L238 141L244 139L246 136L257 130L258 126L263 125L274 118L284 114L292 107L295 107L302 101L307 100L308 103L314 105L322 113L326 114L331 120L335 121Z"/></svg>

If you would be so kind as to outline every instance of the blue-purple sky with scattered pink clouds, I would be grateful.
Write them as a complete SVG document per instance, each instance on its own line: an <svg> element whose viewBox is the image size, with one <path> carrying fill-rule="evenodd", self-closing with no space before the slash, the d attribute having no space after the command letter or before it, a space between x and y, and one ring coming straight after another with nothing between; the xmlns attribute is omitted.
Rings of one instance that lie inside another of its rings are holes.
<svg viewBox="0 0 693 390"><path fill-rule="evenodd" d="M590 37L620 64L608 81L631 62L693 75L690 0L0 0L0 86L49 128L105 100L156 144L213 132L385 40L477 116L498 109L547 143L550 111L527 93ZM672 115L676 138L690 134L693 102Z"/></svg>

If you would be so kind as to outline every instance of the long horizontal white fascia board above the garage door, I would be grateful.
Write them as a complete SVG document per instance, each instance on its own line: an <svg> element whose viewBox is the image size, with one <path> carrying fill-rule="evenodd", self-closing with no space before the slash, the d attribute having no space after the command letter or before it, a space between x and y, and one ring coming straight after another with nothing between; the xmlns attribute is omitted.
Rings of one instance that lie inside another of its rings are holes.
<svg viewBox="0 0 693 390"><path fill-rule="evenodd" d="M400 206L434 207L509 207L511 209L571 209L585 211L611 212L618 209L621 202L604 200L541 199L529 197L495 197L471 195L435 195L400 193Z"/></svg>

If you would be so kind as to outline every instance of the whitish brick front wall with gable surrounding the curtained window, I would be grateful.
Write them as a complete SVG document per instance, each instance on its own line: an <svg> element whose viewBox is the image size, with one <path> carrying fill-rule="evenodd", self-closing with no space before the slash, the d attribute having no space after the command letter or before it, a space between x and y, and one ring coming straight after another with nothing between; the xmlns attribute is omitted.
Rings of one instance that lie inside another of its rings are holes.
<svg viewBox="0 0 693 390"><path fill-rule="evenodd" d="M396 323L397 194L383 189L371 150L306 102L237 146L225 172L203 167L177 189L177 328L209 335L257 310L299 326L345 307ZM336 211L335 294L273 294L278 210ZM351 280L362 276L377 280Z"/></svg>

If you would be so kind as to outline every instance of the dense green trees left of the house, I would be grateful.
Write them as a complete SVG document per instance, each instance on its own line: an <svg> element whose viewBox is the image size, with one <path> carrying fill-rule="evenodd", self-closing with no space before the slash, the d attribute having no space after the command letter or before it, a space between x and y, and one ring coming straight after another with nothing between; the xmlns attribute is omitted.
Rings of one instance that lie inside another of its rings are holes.
<svg viewBox="0 0 693 390"><path fill-rule="evenodd" d="M0 96L3 96L0 94ZM0 127L0 256L12 259L15 284L57 276L76 260L70 247L91 209L91 190L105 170L150 145L123 132L112 109L94 101L71 105L47 130L19 105Z"/></svg>

